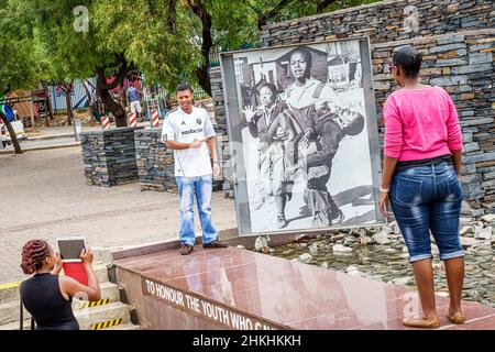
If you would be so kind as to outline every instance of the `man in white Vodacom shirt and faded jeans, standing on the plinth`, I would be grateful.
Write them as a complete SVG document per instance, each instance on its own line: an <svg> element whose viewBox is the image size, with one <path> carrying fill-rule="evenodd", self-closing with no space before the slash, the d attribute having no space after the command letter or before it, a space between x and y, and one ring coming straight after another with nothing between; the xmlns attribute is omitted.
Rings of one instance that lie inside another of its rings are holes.
<svg viewBox="0 0 495 352"><path fill-rule="evenodd" d="M212 174L220 175L215 130L207 111L193 106L193 89L189 85L178 85L176 94L179 107L165 118L162 142L174 150L175 177L180 197L180 254L190 254L195 245L195 196L202 229L202 246L227 248L227 244L218 242L218 233L211 221Z"/></svg>

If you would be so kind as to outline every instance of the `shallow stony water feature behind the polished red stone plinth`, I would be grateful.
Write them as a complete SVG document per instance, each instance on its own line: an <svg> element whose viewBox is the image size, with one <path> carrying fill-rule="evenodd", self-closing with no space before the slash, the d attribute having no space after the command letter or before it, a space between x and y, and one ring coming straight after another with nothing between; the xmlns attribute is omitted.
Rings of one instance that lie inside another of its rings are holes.
<svg viewBox="0 0 495 352"><path fill-rule="evenodd" d="M299 243L287 243L271 249L270 255L417 289L400 235L388 233L385 244L377 244L371 238L373 234L376 239L374 231L356 229L350 232L328 233ZM495 241L482 243L482 250L465 251L462 299L495 307ZM432 253L436 293L447 297L446 271L433 244Z"/></svg>

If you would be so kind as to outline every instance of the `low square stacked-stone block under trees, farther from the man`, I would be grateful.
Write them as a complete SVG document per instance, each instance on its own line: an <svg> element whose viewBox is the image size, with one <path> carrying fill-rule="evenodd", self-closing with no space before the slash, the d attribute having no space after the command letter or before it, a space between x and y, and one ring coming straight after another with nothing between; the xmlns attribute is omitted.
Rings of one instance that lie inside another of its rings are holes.
<svg viewBox="0 0 495 352"><path fill-rule="evenodd" d="M111 187L138 180L134 130L118 128L80 134L87 185Z"/></svg>

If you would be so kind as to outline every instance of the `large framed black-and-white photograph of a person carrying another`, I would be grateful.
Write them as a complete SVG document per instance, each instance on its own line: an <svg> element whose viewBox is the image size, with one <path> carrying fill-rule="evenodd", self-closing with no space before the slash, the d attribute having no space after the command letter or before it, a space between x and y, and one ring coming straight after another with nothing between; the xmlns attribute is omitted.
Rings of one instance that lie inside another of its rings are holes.
<svg viewBox="0 0 495 352"><path fill-rule="evenodd" d="M360 42L239 52L233 65L252 233L376 222Z"/></svg>

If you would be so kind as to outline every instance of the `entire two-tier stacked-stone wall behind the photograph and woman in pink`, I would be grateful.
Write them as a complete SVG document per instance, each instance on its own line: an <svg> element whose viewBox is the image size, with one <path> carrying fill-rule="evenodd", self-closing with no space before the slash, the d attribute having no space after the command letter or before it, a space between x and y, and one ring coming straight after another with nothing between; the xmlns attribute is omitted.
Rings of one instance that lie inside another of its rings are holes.
<svg viewBox="0 0 495 352"><path fill-rule="evenodd" d="M462 184L480 215L495 210L495 2L474 0L382 1L266 25L262 46L369 36L376 112L396 89L389 70L394 50L413 44L424 54L422 81L454 100L464 138Z"/></svg>

